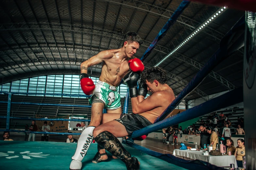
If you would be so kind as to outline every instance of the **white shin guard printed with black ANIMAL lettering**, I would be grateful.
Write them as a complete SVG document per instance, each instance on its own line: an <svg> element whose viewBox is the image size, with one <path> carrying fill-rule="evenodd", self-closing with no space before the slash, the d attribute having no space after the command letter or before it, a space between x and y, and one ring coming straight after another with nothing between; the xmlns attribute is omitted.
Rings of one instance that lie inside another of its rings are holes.
<svg viewBox="0 0 256 170"><path fill-rule="evenodd" d="M94 130L94 126L89 126L87 128L84 129L84 131L82 132L81 136L78 139L77 142L77 149L76 152L74 154L74 156L72 156L73 160L76 161L82 161L84 156L87 153L87 150L89 149L92 141L93 141L93 130Z"/></svg>

